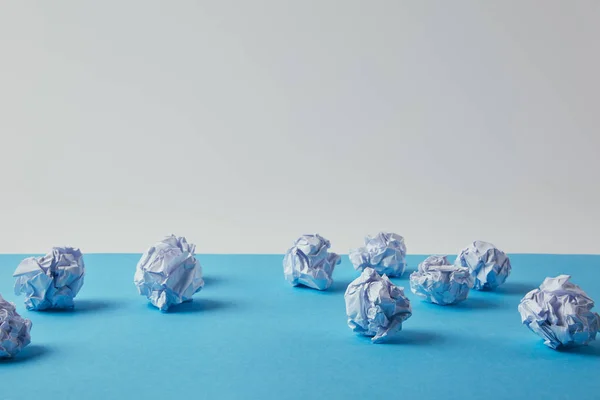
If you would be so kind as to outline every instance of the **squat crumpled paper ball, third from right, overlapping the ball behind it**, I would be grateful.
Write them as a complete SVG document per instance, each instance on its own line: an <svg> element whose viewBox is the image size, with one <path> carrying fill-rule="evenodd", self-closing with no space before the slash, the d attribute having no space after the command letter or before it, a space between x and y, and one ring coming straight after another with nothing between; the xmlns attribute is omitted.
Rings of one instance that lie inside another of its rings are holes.
<svg viewBox="0 0 600 400"><path fill-rule="evenodd" d="M442 306L466 300L472 286L469 269L450 264L446 256L429 256L410 274L410 290Z"/></svg>

